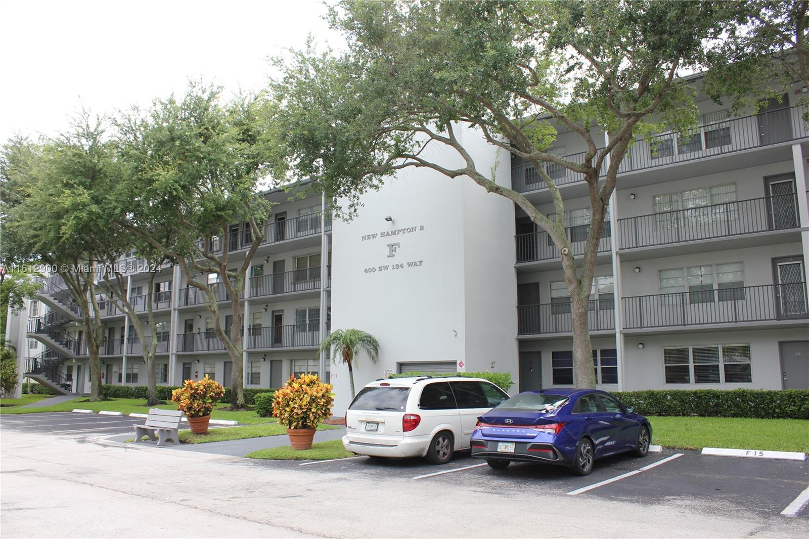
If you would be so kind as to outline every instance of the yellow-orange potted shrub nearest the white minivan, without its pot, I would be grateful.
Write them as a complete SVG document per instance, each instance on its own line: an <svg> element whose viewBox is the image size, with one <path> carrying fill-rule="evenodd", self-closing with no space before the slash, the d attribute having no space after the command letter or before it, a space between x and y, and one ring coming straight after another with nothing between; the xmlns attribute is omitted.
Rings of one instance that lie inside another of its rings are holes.
<svg viewBox="0 0 809 539"><path fill-rule="evenodd" d="M317 375L292 375L274 394L273 416L288 429L313 429L332 416L333 404L332 384Z"/></svg>

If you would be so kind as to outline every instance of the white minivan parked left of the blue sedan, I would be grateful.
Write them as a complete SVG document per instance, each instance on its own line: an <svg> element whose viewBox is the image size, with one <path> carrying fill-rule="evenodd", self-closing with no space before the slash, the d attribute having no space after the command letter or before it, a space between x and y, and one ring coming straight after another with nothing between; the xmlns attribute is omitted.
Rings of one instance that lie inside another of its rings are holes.
<svg viewBox="0 0 809 539"><path fill-rule="evenodd" d="M426 456L443 464L469 448L481 416L508 398L482 378L390 378L367 384L345 412L343 447L358 455Z"/></svg>

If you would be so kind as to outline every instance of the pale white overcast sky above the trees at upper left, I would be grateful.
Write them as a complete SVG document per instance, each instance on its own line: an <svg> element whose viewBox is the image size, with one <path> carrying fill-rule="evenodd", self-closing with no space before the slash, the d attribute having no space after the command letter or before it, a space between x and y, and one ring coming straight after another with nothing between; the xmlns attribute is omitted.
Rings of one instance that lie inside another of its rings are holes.
<svg viewBox="0 0 809 539"><path fill-rule="evenodd" d="M257 89L265 58L312 34L339 48L320 0L0 0L0 143L53 135L82 104L114 112L188 78Z"/></svg>

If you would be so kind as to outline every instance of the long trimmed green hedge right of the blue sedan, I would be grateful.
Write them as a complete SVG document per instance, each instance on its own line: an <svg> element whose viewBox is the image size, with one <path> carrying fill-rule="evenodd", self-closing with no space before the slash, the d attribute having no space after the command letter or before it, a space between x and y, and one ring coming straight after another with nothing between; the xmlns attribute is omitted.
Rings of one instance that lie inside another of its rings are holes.
<svg viewBox="0 0 809 539"><path fill-rule="evenodd" d="M643 415L809 419L809 389L647 389L614 394Z"/></svg>

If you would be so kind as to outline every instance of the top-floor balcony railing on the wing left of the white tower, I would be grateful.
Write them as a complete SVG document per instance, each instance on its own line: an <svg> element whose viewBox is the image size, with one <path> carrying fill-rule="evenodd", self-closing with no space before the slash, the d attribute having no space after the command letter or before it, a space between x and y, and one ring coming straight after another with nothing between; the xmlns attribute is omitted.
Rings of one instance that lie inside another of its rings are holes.
<svg viewBox="0 0 809 539"><path fill-rule="evenodd" d="M323 230L324 219L321 214L307 214L300 215L293 219L285 219L276 221L275 223L266 223L264 225L264 240L261 241L262 245L274 244L279 241L293 240L295 238L303 238L306 236L313 236L320 234ZM330 231L332 229L332 214L326 214L325 229ZM227 243L226 243L227 242ZM208 242L208 252L217 254L222 253L227 246L228 252L232 253L239 249L246 249L252 245L252 231L242 228L241 230L234 230L225 236L216 236ZM205 248L205 240L197 241L197 247L203 250Z"/></svg>

